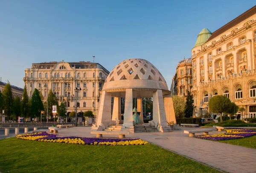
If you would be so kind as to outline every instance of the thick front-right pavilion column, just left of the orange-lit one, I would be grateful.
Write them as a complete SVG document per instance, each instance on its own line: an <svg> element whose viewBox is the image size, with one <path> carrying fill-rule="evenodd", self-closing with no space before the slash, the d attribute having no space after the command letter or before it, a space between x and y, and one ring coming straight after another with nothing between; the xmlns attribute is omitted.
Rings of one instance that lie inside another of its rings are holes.
<svg viewBox="0 0 256 173"><path fill-rule="evenodd" d="M157 89L156 92L153 92L153 121L156 125L160 124L162 127L167 126L161 89Z"/></svg>

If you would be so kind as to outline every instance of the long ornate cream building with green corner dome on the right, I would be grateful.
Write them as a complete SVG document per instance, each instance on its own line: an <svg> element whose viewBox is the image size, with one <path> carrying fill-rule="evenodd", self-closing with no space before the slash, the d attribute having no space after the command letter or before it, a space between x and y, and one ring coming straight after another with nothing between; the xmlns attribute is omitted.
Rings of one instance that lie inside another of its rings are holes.
<svg viewBox="0 0 256 173"><path fill-rule="evenodd" d="M198 115L214 95L224 95L256 116L256 6L211 33L203 29L192 49Z"/></svg>

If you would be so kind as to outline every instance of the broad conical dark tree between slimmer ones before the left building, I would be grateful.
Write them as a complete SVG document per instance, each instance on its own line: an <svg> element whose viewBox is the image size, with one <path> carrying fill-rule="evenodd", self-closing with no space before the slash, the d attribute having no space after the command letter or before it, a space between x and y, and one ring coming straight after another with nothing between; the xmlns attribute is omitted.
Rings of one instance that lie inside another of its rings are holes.
<svg viewBox="0 0 256 173"><path fill-rule="evenodd" d="M35 88L31 97L31 118L34 118L35 116L39 117L42 110L44 110L44 104L38 89Z"/></svg>

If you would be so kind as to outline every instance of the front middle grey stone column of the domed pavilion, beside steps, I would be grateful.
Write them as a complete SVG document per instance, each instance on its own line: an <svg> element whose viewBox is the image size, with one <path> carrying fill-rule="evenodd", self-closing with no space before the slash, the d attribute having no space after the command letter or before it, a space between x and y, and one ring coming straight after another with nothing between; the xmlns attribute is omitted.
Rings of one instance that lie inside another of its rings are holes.
<svg viewBox="0 0 256 173"><path fill-rule="evenodd" d="M132 89L129 88L125 91L125 114L123 126L126 128L133 126L132 110Z"/></svg>

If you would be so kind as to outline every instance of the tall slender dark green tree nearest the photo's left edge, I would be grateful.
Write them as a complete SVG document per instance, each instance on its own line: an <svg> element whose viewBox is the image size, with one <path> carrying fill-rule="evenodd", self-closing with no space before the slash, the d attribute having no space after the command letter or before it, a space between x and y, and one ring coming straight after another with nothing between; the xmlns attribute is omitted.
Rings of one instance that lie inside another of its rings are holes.
<svg viewBox="0 0 256 173"><path fill-rule="evenodd" d="M12 114L12 107L13 107L13 97L12 97L12 88L11 85L8 83L3 88L3 109L5 115L9 117Z"/></svg>

